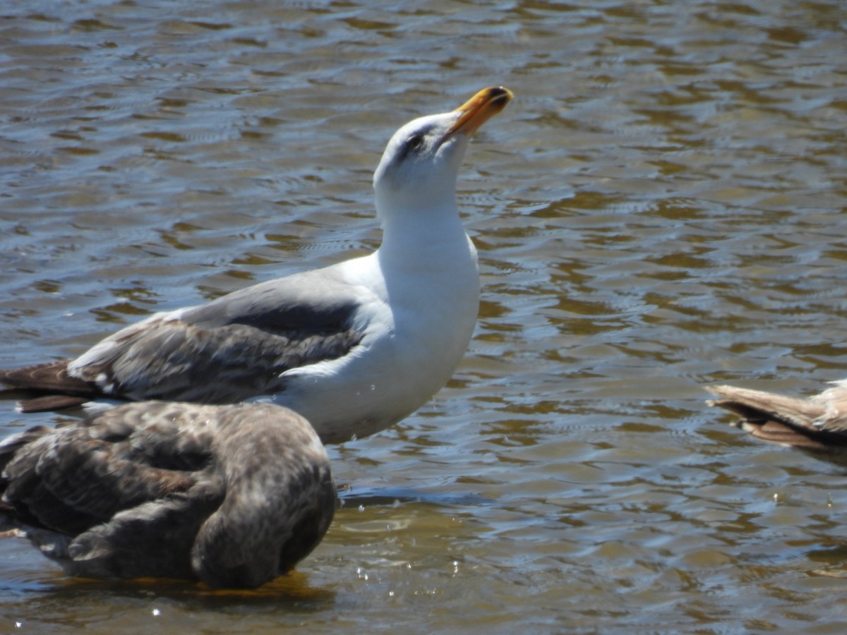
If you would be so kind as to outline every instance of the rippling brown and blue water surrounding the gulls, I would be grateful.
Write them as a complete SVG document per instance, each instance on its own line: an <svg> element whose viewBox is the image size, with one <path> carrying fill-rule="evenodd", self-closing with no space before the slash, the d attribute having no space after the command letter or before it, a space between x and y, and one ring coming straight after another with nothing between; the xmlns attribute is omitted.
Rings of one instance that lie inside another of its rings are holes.
<svg viewBox="0 0 847 635"><path fill-rule="evenodd" d="M0 631L844 632L847 476L702 386L847 375L847 4L385 6L3 4L2 367L374 248L396 127L517 97L460 177L468 356L331 450L299 571L80 582L5 539Z"/></svg>

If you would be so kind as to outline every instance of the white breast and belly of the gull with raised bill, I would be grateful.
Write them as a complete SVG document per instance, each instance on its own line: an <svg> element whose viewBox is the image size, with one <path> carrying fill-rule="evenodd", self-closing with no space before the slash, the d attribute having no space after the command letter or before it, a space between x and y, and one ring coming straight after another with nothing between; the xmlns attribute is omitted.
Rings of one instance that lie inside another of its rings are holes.
<svg viewBox="0 0 847 635"><path fill-rule="evenodd" d="M379 251L341 263L367 290L356 320L363 340L339 360L285 373L274 402L307 417L325 443L378 432L423 406L461 362L479 311L476 250L462 238L462 249L417 265L406 257L387 275Z"/></svg>

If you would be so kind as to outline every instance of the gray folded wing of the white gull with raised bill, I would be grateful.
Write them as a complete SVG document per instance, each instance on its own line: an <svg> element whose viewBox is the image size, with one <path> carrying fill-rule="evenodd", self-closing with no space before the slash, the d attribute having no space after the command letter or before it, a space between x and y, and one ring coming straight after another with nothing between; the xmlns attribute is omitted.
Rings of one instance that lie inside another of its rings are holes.
<svg viewBox="0 0 847 635"><path fill-rule="evenodd" d="M362 340L352 327L361 301L333 268L299 273L154 315L70 362L69 374L134 400L229 403L279 392L281 373Z"/></svg>

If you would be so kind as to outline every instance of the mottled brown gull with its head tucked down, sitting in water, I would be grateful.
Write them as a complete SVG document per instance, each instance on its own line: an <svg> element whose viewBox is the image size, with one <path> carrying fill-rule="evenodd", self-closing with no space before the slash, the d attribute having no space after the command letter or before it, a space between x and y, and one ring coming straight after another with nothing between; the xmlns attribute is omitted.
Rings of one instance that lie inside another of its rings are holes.
<svg viewBox="0 0 847 635"><path fill-rule="evenodd" d="M0 522L72 576L254 588L335 513L329 457L271 404L141 401L0 443Z"/></svg>

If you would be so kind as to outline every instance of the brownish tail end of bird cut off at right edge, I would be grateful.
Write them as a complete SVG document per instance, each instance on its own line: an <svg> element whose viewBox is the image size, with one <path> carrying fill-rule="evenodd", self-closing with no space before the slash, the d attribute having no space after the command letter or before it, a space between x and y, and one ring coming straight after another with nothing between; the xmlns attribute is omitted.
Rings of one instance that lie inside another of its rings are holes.
<svg viewBox="0 0 847 635"><path fill-rule="evenodd" d="M762 390L709 386L720 406L739 415L737 428L756 439L803 450L822 461L847 467L847 379L812 397Z"/></svg>

